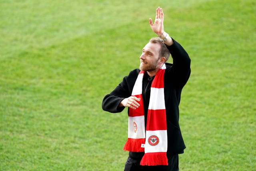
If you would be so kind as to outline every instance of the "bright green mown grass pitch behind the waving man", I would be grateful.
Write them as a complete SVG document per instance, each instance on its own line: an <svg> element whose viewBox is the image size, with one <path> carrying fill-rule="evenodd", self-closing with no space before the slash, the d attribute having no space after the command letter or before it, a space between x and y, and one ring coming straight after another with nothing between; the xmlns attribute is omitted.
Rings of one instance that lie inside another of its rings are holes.
<svg viewBox="0 0 256 171"><path fill-rule="evenodd" d="M255 170L254 0L0 0L1 171L123 170L127 110L101 102L138 68L158 6L192 59L180 170Z"/></svg>

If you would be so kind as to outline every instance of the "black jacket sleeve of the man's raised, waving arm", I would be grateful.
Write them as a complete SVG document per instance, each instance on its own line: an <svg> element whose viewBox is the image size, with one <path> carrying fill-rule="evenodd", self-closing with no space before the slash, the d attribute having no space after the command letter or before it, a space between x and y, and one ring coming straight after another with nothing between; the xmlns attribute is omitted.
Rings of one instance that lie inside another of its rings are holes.
<svg viewBox="0 0 256 171"><path fill-rule="evenodd" d="M190 76L190 58L185 49L175 40L174 43L167 48L169 49L173 65L170 72L173 75L173 83L177 88L182 88Z"/></svg>

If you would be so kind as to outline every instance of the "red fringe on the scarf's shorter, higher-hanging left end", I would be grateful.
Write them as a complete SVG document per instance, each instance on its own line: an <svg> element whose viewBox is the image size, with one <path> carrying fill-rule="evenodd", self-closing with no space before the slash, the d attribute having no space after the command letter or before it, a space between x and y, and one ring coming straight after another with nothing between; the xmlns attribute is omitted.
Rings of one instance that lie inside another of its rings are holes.
<svg viewBox="0 0 256 171"><path fill-rule="evenodd" d="M128 138L127 142L124 145L124 150L132 152L144 152L144 147L141 147L142 144L145 144L145 138Z"/></svg>

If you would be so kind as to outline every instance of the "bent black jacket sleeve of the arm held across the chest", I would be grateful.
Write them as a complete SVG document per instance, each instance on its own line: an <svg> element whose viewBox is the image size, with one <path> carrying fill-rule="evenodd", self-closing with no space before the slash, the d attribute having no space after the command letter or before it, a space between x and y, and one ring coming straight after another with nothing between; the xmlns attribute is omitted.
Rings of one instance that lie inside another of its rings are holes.
<svg viewBox="0 0 256 171"><path fill-rule="evenodd" d="M131 75L131 73L129 75ZM131 96L132 93L130 87L131 81L129 81L129 76L126 76L124 77L123 81L118 86L116 86L116 88L110 94L107 94L103 98L102 109L111 113L122 112L125 107L118 107L118 105L124 98L128 98Z"/></svg>

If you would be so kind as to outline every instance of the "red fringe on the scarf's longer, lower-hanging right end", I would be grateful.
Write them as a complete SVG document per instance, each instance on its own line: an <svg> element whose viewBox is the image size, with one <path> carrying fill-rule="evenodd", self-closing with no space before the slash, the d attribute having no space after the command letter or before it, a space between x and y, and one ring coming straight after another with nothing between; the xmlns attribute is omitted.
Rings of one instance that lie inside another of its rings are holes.
<svg viewBox="0 0 256 171"><path fill-rule="evenodd" d="M148 166L168 165L166 152L145 153L140 161L140 165L148 165Z"/></svg>

